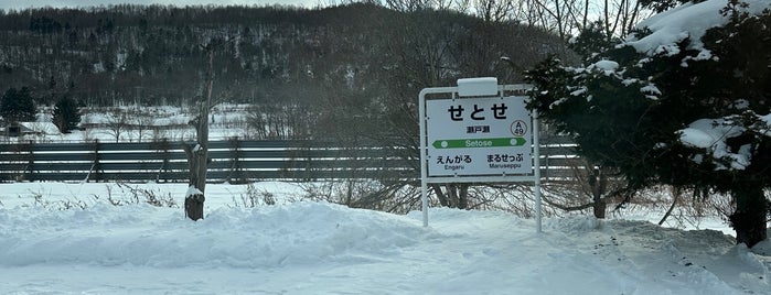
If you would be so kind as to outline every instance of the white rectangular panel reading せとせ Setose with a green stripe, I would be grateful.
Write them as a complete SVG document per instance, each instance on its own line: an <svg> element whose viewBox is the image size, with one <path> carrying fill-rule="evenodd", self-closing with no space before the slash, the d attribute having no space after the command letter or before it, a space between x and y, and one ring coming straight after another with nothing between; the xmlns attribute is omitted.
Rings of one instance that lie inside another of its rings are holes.
<svg viewBox="0 0 771 295"><path fill-rule="evenodd" d="M428 176L533 173L525 98L427 100Z"/></svg>

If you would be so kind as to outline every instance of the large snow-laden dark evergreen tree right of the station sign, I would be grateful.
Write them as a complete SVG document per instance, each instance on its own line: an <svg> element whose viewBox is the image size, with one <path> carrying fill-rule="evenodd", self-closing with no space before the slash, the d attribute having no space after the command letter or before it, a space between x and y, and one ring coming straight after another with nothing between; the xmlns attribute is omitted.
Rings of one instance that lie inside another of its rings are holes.
<svg viewBox="0 0 771 295"><path fill-rule="evenodd" d="M668 184L730 195L737 242L752 247L767 238L771 207L763 195L771 187L771 12L728 3L715 11L727 24L699 40L692 33L643 48L655 32L640 31L587 66L545 61L528 72L537 88L531 107L572 134L583 156L618 168L630 190Z"/></svg>

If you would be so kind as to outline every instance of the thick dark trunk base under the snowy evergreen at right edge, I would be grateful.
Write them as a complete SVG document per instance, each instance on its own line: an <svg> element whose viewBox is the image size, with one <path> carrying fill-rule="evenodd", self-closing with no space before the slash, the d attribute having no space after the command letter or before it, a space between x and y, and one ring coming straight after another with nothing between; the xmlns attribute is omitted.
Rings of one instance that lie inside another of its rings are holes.
<svg viewBox="0 0 771 295"><path fill-rule="evenodd" d="M736 200L736 211L730 216L731 227L736 230L736 242L752 248L768 238L769 201L763 195L763 184L739 184L731 194Z"/></svg>

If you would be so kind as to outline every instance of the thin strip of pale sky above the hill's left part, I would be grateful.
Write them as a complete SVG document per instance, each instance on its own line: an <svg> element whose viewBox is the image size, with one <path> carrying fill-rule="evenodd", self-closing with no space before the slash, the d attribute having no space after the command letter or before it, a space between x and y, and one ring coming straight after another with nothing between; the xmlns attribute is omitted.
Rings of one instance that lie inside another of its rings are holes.
<svg viewBox="0 0 771 295"><path fill-rule="evenodd" d="M25 9L36 7L95 7L109 6L120 3L131 4L174 4L174 6L199 6L199 4L240 4L240 6L269 6L269 4L292 4L307 8L317 7L319 3L325 3L325 0L0 0L0 9Z"/></svg>

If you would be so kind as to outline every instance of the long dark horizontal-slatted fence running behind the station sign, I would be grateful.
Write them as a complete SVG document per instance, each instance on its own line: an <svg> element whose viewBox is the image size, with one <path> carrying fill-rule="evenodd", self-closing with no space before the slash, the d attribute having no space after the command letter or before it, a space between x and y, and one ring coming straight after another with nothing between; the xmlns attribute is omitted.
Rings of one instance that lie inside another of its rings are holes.
<svg viewBox="0 0 771 295"><path fill-rule="evenodd" d="M542 142L543 177L570 173L576 161L572 145L564 139ZM191 143L0 144L0 182L188 182L184 144ZM344 146L324 141L214 141L208 143L207 179L413 181L420 175L417 154L401 148Z"/></svg>

